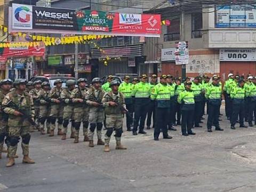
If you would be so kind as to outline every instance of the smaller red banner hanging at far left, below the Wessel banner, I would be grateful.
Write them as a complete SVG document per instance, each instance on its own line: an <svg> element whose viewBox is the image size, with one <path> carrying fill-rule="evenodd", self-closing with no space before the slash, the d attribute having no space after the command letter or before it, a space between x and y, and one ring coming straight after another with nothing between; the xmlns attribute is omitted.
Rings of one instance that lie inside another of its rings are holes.
<svg viewBox="0 0 256 192"><path fill-rule="evenodd" d="M15 42L10 42L15 43ZM2 47L0 48L0 60L7 60L11 57L30 57L30 56L44 56L45 46L40 42L36 46L24 47Z"/></svg>

